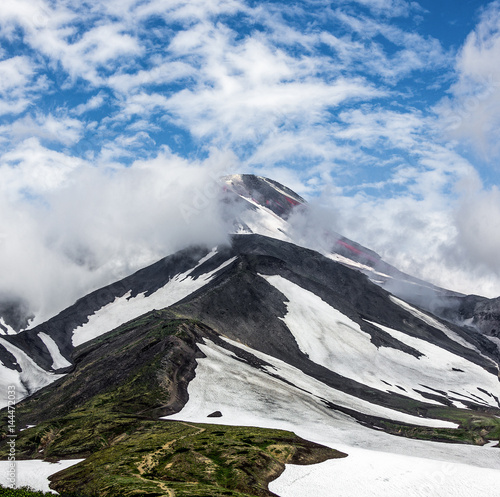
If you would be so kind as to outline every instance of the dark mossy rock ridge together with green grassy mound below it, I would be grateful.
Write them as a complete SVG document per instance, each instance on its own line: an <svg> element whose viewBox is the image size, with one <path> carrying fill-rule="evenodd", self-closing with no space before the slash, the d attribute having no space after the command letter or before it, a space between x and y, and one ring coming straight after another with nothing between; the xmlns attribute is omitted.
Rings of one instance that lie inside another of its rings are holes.
<svg viewBox="0 0 500 497"><path fill-rule="evenodd" d="M68 497L215 497L269 496L285 463L345 456L291 432L158 420L186 398L203 326L155 311L84 344L72 373L17 406L19 425L36 424L18 459L85 458L51 478Z"/></svg>

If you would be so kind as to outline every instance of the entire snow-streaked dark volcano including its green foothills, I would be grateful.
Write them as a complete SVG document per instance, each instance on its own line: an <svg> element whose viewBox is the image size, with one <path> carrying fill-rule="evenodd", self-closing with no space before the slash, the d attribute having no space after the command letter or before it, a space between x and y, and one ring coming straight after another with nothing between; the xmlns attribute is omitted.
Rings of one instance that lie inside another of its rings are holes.
<svg viewBox="0 0 500 497"><path fill-rule="evenodd" d="M81 460L50 485L89 496L494 495L499 300L402 273L273 180L220 202L225 243L36 326L0 307L18 459Z"/></svg>

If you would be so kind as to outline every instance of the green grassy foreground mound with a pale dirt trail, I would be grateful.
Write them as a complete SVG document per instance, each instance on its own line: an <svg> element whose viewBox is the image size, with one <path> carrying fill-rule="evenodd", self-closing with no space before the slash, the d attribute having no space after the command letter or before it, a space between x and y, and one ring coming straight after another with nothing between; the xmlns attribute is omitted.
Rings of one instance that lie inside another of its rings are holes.
<svg viewBox="0 0 500 497"><path fill-rule="evenodd" d="M249 436L252 444L244 441ZM268 496L268 483L285 463L344 456L280 430L143 422L119 443L59 473L52 486L102 496Z"/></svg>

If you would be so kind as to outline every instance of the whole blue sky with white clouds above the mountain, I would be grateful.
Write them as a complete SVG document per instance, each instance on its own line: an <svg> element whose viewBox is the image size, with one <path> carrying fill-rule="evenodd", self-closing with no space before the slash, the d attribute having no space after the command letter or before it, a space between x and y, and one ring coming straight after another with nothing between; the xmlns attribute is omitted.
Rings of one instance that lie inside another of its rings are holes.
<svg viewBox="0 0 500 497"><path fill-rule="evenodd" d="M500 295L498 61L499 1L3 0L0 291L57 306L212 242L172 205L249 172Z"/></svg>

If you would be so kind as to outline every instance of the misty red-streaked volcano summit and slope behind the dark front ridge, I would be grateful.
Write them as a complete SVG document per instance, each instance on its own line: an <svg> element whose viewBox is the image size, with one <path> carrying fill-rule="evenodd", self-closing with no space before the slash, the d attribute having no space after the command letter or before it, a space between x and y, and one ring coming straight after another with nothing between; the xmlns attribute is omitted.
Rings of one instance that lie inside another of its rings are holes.
<svg viewBox="0 0 500 497"><path fill-rule="evenodd" d="M224 188L245 209L238 211L236 233L255 233L305 245L370 280L395 296L453 323L471 326L500 344L500 297L466 296L399 271L373 250L318 223L307 202L280 183L254 175L224 178Z"/></svg>

